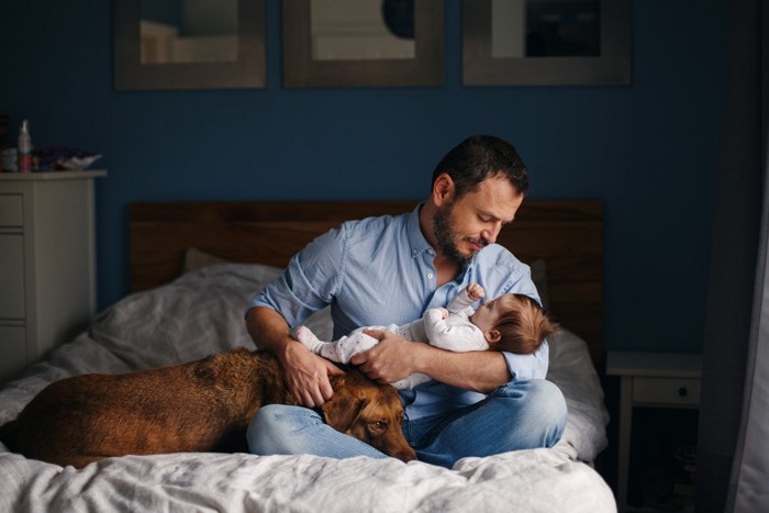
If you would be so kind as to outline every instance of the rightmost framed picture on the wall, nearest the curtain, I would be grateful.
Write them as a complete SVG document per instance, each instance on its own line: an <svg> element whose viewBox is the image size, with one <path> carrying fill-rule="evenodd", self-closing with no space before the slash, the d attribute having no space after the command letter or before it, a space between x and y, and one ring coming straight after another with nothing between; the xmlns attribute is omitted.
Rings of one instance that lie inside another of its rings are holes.
<svg viewBox="0 0 769 513"><path fill-rule="evenodd" d="M631 0L464 0L465 86L627 85Z"/></svg>

